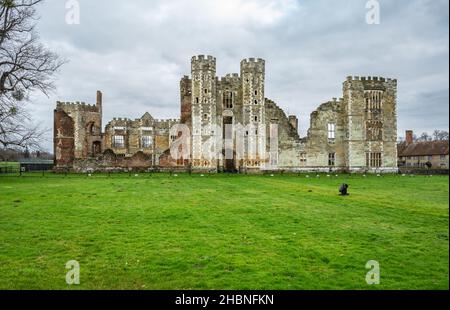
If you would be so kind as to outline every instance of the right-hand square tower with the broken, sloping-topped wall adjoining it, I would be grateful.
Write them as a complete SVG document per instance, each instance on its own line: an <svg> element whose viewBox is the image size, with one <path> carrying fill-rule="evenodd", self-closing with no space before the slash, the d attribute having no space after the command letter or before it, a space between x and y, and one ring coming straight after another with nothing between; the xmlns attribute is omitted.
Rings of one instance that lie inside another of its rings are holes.
<svg viewBox="0 0 450 310"><path fill-rule="evenodd" d="M306 166L397 171L397 81L348 77L343 92L311 114Z"/></svg>

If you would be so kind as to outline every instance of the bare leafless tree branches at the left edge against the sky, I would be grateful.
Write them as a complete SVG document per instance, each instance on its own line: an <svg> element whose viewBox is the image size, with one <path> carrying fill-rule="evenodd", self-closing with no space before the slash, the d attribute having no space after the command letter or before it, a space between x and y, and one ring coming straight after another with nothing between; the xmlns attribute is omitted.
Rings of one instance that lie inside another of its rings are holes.
<svg viewBox="0 0 450 310"><path fill-rule="evenodd" d="M36 148L43 135L31 126L25 103L37 91L54 90L54 73L65 63L46 49L35 31L43 0L0 0L0 146Z"/></svg>

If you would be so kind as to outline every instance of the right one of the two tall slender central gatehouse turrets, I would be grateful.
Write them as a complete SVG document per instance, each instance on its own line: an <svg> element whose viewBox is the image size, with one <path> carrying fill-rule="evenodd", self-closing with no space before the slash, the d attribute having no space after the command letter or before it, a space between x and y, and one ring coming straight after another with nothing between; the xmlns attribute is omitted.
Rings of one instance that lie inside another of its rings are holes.
<svg viewBox="0 0 450 310"><path fill-rule="evenodd" d="M266 159L265 61L249 58L241 61L242 123L245 128L244 162L246 168L260 168Z"/></svg>

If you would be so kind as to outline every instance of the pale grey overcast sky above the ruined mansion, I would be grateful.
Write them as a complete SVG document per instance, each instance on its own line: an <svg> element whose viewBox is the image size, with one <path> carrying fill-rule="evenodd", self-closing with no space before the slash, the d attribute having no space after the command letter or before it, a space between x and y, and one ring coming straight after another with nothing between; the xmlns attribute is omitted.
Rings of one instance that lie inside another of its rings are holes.
<svg viewBox="0 0 450 310"><path fill-rule="evenodd" d="M342 97L348 75L397 78L399 135L448 130L449 1L379 0L379 25L366 0L79 0L68 25L64 0L39 8L43 43L70 60L57 91L35 96L35 122L52 128L55 102L95 102L113 117L179 118L179 80L193 55L217 58L218 76L243 58L266 60L266 97L300 119ZM52 149L52 132L45 147Z"/></svg>

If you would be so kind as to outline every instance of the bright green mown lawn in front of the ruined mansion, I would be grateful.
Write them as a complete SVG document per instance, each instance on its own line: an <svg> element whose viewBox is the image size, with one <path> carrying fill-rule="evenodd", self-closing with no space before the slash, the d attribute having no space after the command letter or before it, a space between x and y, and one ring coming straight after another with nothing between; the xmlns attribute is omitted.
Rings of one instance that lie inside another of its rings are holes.
<svg viewBox="0 0 450 310"><path fill-rule="evenodd" d="M337 195L342 182L348 197ZM0 176L0 289L448 289L448 176ZM65 264L81 265L81 285ZM369 260L381 284L365 282Z"/></svg>

